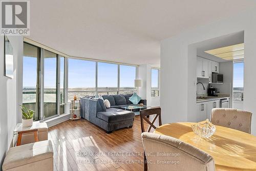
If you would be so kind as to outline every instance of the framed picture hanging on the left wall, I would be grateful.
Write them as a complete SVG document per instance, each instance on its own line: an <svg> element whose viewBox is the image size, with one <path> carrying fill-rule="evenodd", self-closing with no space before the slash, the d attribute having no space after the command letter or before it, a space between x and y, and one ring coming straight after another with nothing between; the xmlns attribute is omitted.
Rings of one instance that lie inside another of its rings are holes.
<svg viewBox="0 0 256 171"><path fill-rule="evenodd" d="M5 36L5 76L13 78L13 48L7 36Z"/></svg>

